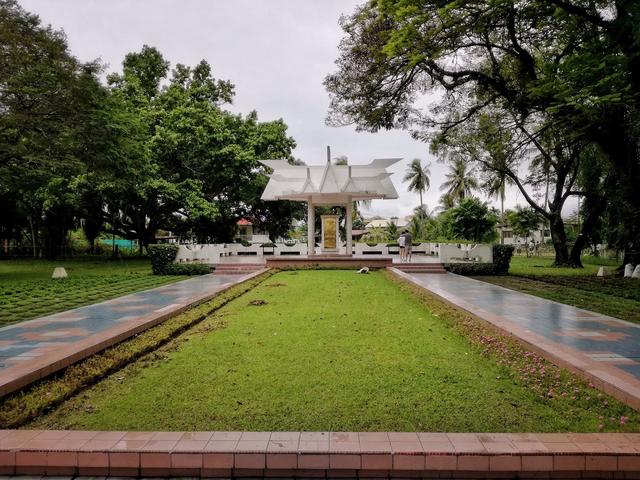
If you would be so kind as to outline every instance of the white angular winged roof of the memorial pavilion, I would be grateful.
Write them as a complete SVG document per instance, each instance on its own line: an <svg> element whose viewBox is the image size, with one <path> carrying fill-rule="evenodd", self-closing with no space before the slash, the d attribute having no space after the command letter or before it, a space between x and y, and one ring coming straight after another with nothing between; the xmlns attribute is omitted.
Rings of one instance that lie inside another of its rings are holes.
<svg viewBox="0 0 640 480"><path fill-rule="evenodd" d="M261 160L273 169L262 200L298 200L316 205L342 205L374 198L398 198L387 167L401 158L377 158L369 165L291 165Z"/></svg>

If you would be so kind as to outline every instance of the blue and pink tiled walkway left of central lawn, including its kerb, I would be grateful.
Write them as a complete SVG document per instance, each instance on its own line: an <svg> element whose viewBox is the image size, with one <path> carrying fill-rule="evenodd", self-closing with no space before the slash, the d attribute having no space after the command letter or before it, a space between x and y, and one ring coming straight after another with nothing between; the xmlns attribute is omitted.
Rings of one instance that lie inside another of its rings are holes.
<svg viewBox="0 0 640 480"><path fill-rule="evenodd" d="M203 275L0 328L0 395L113 345L250 275Z"/></svg>

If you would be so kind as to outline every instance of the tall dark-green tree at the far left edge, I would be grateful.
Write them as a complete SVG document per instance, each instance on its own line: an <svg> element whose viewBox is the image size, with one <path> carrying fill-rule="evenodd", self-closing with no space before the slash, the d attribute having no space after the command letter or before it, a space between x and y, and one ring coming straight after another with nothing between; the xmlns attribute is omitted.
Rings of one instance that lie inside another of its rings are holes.
<svg viewBox="0 0 640 480"><path fill-rule="evenodd" d="M34 254L63 253L75 227L77 179L108 162L114 138L98 81L100 65L81 63L62 32L13 0L0 1L0 192L27 215Z"/></svg>

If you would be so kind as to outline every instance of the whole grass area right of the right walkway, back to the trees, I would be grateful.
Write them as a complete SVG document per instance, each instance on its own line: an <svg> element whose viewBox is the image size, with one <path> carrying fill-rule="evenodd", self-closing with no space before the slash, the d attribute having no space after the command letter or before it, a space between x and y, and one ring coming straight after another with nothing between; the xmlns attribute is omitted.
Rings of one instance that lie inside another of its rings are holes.
<svg viewBox="0 0 640 480"><path fill-rule="evenodd" d="M584 268L551 267L550 257L513 257L509 275L477 277L548 300L604 313L613 317L640 323L640 282L636 279L597 277L600 265L612 270L614 260L583 257Z"/></svg>

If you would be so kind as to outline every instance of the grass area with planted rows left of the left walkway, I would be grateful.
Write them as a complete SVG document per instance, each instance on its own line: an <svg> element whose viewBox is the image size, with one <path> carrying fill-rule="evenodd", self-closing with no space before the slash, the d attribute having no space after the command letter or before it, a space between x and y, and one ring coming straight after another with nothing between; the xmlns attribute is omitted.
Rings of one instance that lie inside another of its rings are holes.
<svg viewBox="0 0 640 480"><path fill-rule="evenodd" d="M53 280L55 267L69 275ZM184 277L154 276L147 259L0 261L0 326L165 285Z"/></svg>

